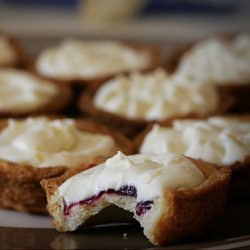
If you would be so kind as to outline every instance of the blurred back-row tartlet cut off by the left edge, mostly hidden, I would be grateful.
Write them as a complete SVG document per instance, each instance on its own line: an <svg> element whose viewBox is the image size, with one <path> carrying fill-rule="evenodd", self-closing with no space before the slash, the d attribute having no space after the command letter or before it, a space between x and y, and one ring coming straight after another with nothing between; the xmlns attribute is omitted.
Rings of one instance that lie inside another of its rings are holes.
<svg viewBox="0 0 250 250"><path fill-rule="evenodd" d="M0 67L19 67L24 62L24 51L17 39L0 32Z"/></svg>

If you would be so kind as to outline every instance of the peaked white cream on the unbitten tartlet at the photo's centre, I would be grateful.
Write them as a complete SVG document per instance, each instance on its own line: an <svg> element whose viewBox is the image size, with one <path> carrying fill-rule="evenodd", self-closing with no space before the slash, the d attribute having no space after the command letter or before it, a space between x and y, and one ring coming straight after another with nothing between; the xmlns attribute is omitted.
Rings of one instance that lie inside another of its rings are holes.
<svg viewBox="0 0 250 250"><path fill-rule="evenodd" d="M190 113L216 110L218 94L210 84L198 84L162 69L116 77L102 85L94 96L99 109L127 118L163 120Z"/></svg>

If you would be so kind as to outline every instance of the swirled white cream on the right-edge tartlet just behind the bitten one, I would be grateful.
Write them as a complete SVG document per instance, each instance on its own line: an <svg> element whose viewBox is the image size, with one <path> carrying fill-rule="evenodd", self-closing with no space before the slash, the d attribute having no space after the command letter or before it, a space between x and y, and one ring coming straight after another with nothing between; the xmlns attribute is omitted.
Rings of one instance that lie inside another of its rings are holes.
<svg viewBox="0 0 250 250"><path fill-rule="evenodd" d="M154 125L140 153L179 153L217 165L242 162L250 155L250 121L212 117L176 120L173 128Z"/></svg>

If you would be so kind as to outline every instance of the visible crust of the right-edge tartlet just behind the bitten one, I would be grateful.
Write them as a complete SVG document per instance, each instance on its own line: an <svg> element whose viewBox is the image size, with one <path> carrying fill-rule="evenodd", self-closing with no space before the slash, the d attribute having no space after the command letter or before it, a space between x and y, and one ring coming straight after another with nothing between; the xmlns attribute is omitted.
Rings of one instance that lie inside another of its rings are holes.
<svg viewBox="0 0 250 250"><path fill-rule="evenodd" d="M225 118L236 118L241 121L250 121L250 115L224 115ZM199 120L199 119L198 119ZM205 120L205 119L204 119ZM173 122L173 121L172 121ZM159 123L161 126L171 128L172 122ZM153 124L148 125L144 131L139 133L133 140L135 146L135 152L139 153L141 144L145 136L151 131ZM229 200L232 202L247 200L250 198L250 152L243 162L236 162L235 164L224 166L223 168L229 168L232 171Z"/></svg>

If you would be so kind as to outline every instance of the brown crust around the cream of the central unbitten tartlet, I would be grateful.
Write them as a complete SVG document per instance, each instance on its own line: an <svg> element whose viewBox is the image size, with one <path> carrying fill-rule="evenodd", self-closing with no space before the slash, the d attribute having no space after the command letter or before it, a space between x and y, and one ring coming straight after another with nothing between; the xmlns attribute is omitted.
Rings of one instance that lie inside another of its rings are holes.
<svg viewBox="0 0 250 250"><path fill-rule="evenodd" d="M141 132L148 124L152 124L157 121L146 121L142 119L129 119L118 114L113 114L108 111L99 109L94 105L93 97L98 90L98 87L89 87L84 90L79 98L78 108L79 110L92 117L93 119L98 119L102 121L107 126L122 131L125 135L133 138L136 134ZM161 123L169 123L175 119L185 119L185 118L206 118L211 115L217 115L224 113L234 102L234 99L229 94L227 90L220 87L217 88L219 94L219 104L218 109L207 116L202 116L197 113L189 113L184 116L169 117L162 120Z"/></svg>

